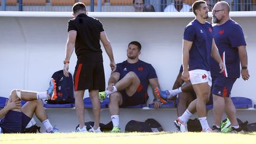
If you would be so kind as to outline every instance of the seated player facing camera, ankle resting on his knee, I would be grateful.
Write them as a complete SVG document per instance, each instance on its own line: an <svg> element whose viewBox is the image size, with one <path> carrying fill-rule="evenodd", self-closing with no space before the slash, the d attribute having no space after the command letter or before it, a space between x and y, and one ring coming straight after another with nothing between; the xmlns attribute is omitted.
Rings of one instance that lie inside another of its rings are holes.
<svg viewBox="0 0 256 144"><path fill-rule="evenodd" d="M108 79L108 87L104 92L100 92L100 98L104 99L110 95L110 103L108 105L113 122L113 130L111 132L121 132L119 127L119 107L127 107L130 105L145 104L148 100L148 85L152 89L159 87L158 78L155 69L149 63L139 59L141 44L132 41L128 44L127 60L117 64L116 71L111 73ZM155 97L155 108L161 105L161 99Z"/></svg>

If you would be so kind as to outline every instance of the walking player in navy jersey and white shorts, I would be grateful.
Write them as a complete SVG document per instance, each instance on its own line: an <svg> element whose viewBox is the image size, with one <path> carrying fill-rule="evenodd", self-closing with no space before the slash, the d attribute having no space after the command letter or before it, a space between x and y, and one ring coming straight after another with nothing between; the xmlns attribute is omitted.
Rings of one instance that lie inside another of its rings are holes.
<svg viewBox="0 0 256 144"><path fill-rule="evenodd" d="M190 81L196 92L194 100L185 113L174 121L178 129L186 127L187 120L197 111L203 132L212 132L206 119L206 103L209 101L212 78L210 76L209 59L212 56L219 64L219 71L224 65L217 52L213 39L212 25L206 21L208 11L205 1L196 1L192 5L196 19L185 27L183 37L183 73L181 78ZM194 107L196 106L196 110ZM186 131L186 129L184 129Z"/></svg>

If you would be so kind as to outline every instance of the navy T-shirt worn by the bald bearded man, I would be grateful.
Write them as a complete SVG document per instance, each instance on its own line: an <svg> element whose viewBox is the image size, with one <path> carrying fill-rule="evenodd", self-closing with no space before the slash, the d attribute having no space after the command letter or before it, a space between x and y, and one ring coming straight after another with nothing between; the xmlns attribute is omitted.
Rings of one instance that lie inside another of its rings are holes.
<svg viewBox="0 0 256 144"><path fill-rule="evenodd" d="M218 63L212 60L211 74L228 78L239 78L240 59L237 47L246 46L241 26L233 20L228 20L222 25L214 24L213 37L226 69L223 73L219 73L220 69Z"/></svg>

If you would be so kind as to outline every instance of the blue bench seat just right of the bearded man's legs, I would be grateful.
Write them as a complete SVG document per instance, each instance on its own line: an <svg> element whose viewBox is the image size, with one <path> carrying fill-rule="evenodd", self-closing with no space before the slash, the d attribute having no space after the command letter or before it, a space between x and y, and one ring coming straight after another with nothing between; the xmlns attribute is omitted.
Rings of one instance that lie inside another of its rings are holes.
<svg viewBox="0 0 256 144"><path fill-rule="evenodd" d="M231 97L235 108L250 108L252 107L252 100L245 97Z"/></svg>

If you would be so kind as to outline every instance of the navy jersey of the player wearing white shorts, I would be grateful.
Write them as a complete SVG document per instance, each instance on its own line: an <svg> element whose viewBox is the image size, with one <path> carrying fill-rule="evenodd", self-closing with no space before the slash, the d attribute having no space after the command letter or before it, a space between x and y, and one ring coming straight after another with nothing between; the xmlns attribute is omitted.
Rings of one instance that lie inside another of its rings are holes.
<svg viewBox="0 0 256 144"><path fill-rule="evenodd" d="M189 52L188 71L194 69L210 71L209 59L213 40L212 25L208 22L201 24L195 19L185 27L183 39L193 41Z"/></svg>

